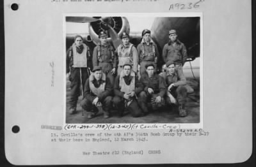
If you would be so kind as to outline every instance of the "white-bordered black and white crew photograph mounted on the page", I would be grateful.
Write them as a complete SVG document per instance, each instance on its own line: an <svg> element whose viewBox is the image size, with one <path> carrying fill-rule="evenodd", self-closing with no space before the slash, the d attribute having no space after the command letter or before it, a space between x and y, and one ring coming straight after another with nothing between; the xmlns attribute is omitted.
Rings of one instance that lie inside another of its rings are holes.
<svg viewBox="0 0 256 167"><path fill-rule="evenodd" d="M65 15L63 29L67 124L202 123L200 15Z"/></svg>

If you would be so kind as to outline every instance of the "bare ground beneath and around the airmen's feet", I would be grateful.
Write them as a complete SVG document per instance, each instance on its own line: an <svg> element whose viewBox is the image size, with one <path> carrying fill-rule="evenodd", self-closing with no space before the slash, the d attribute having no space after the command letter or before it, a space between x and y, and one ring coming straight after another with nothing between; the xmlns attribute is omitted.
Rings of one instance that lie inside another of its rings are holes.
<svg viewBox="0 0 256 167"><path fill-rule="evenodd" d="M177 106L166 106L161 110L150 112L145 117L134 118L130 113L125 113L123 117L117 117L117 111L111 110L111 117L103 118L103 113L98 113L93 119L86 117L86 112L79 105L82 97L77 102L77 113L70 115L68 103L66 104L66 123L68 124L90 124L90 123L199 123L200 122L200 85L198 79L187 78L188 85L191 85L195 92L188 94L186 111L187 117L179 117ZM67 102L70 96L70 82L67 80Z"/></svg>

